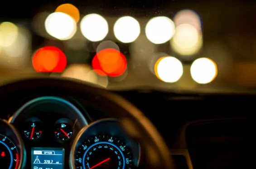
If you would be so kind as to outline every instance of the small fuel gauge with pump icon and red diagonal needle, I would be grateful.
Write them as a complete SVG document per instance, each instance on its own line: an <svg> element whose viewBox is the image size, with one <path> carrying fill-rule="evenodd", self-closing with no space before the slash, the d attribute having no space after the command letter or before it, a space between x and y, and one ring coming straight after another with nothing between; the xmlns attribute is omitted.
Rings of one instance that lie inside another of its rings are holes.
<svg viewBox="0 0 256 169"><path fill-rule="evenodd" d="M73 127L70 122L64 122L64 120L58 120L55 123L54 135L60 142L71 139L73 135Z"/></svg>

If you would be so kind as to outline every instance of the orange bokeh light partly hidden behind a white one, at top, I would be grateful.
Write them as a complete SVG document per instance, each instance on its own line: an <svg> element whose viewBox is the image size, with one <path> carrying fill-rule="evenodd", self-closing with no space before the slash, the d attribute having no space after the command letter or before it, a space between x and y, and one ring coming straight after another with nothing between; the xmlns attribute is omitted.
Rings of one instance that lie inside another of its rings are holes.
<svg viewBox="0 0 256 169"><path fill-rule="evenodd" d="M80 18L79 10L77 9L77 7L75 7L72 4L59 5L55 9L55 12L62 12L62 13L68 14L76 21L76 23L79 21L79 18Z"/></svg>

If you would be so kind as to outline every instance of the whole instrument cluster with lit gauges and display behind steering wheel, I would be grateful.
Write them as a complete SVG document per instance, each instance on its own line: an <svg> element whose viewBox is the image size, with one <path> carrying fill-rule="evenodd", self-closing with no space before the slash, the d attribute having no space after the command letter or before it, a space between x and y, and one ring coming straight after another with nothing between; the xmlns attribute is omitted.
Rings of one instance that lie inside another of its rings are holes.
<svg viewBox="0 0 256 169"><path fill-rule="evenodd" d="M43 96L25 103L8 122L0 120L1 168L136 168L140 145L121 123L88 124L84 111L63 98Z"/></svg>

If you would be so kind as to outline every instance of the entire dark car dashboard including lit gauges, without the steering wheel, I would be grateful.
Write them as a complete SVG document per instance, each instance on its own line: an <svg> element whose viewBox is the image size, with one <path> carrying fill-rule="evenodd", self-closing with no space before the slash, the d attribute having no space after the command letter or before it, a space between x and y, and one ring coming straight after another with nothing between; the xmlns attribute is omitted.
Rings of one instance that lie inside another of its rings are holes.
<svg viewBox="0 0 256 169"><path fill-rule="evenodd" d="M96 103L75 86L66 92L51 85L48 90L37 85L29 90L10 88L0 91L0 161L9 169L148 168L144 157L152 155L153 146L145 151L146 141L135 134L140 130L135 122L126 123L122 110L111 108L97 93ZM254 95L112 93L126 98L155 125L167 145L171 168L255 166L255 116L245 113Z"/></svg>

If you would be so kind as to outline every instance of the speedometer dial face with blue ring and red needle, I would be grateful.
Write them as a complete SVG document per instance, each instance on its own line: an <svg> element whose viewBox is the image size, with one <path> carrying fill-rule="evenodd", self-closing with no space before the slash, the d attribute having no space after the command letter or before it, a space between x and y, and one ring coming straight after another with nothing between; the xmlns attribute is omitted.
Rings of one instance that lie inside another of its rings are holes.
<svg viewBox="0 0 256 169"><path fill-rule="evenodd" d="M89 137L77 147L77 169L132 169L130 148L118 137L97 135Z"/></svg>

